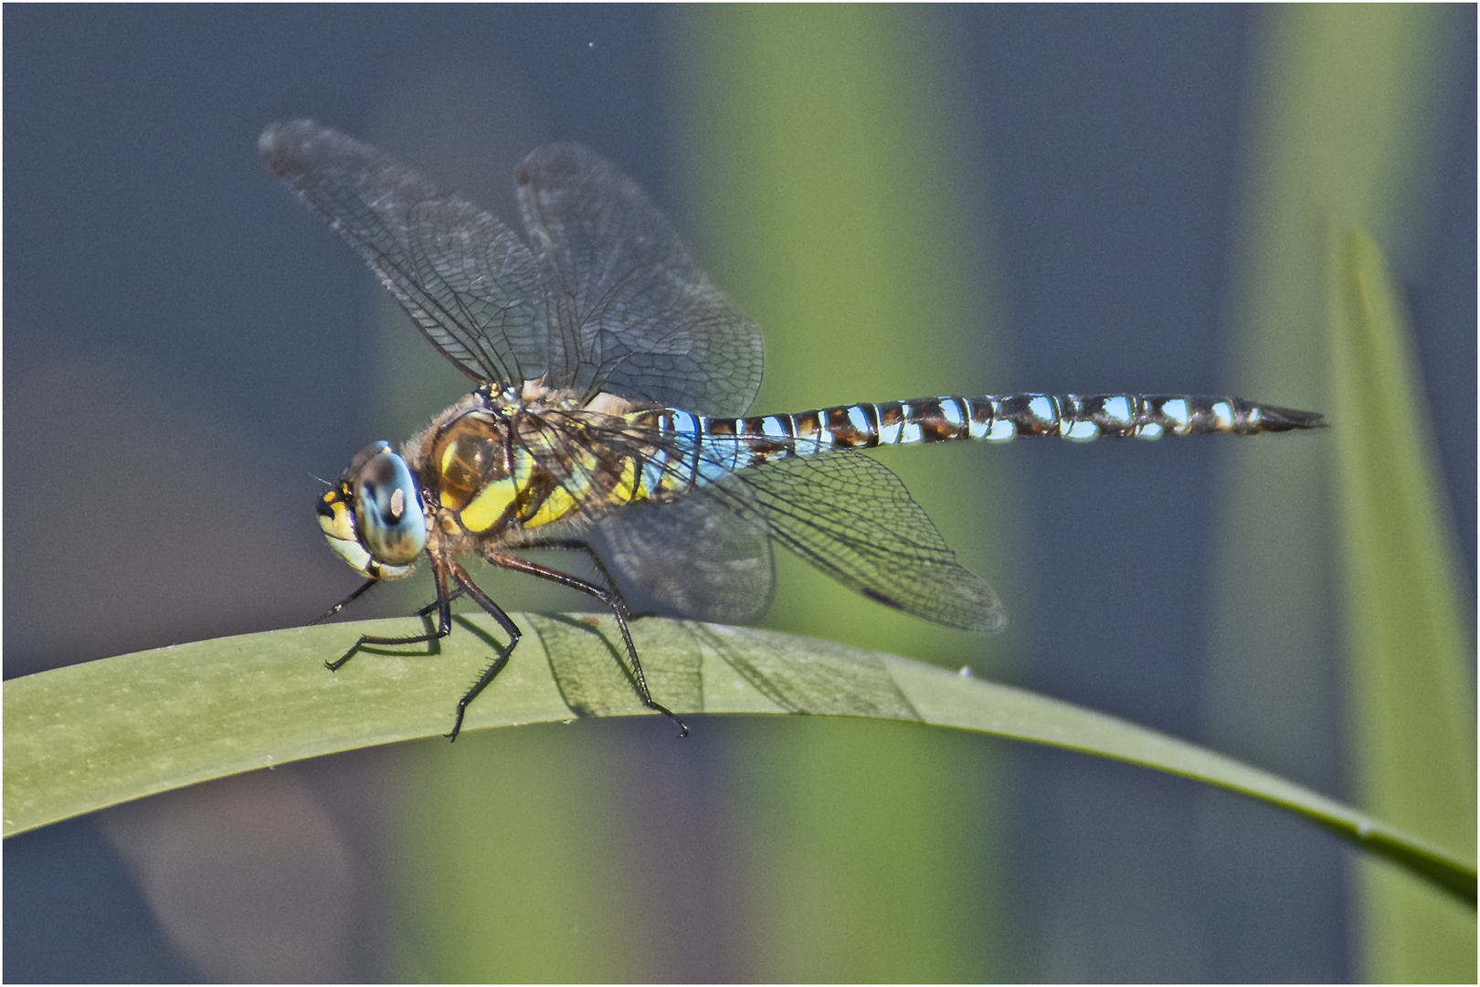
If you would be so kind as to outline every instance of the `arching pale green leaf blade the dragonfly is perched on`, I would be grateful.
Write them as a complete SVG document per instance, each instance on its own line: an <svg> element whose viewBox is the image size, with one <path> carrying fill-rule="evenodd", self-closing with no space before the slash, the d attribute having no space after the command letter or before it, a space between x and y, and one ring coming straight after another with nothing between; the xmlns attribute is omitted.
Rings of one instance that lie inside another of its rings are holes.
<svg viewBox="0 0 1480 987"><path fill-rule="evenodd" d="M530 633L471 707L468 730L567 721L577 710L645 712L613 661L611 621L518 620ZM382 650L337 673L323 667L355 632L394 633L404 623L221 638L6 682L4 833L207 778L443 732L454 698L488 660L482 619L460 617L437 656ZM1474 903L1473 863L1268 772L1111 716L770 630L644 620L635 636L648 681L678 712L918 721L1128 761L1288 808Z"/></svg>

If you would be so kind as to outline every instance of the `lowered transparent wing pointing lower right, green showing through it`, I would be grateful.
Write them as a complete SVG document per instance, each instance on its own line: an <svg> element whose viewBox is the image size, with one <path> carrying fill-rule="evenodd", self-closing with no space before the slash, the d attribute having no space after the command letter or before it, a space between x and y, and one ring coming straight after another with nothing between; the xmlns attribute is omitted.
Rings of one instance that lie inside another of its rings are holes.
<svg viewBox="0 0 1480 987"><path fill-rule="evenodd" d="M844 586L963 630L999 630L1002 602L956 561L925 509L888 466L836 451L737 474L771 536Z"/></svg>

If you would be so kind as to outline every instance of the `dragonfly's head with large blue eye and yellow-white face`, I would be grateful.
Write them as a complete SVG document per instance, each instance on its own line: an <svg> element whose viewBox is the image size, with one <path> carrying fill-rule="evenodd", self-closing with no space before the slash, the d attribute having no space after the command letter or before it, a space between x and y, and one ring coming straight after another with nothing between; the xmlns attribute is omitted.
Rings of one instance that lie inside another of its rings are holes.
<svg viewBox="0 0 1480 987"><path fill-rule="evenodd" d="M426 515L406 460L389 442L360 450L339 484L318 500L318 527L349 568L401 579L426 548Z"/></svg>

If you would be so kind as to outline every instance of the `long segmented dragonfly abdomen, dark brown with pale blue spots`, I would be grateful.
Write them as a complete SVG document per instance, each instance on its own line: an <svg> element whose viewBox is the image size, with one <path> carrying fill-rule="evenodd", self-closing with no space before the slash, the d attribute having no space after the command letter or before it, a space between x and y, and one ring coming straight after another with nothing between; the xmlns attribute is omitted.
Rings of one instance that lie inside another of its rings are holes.
<svg viewBox="0 0 1480 987"><path fill-rule="evenodd" d="M1242 398L1184 394L1014 394L845 404L799 414L707 419L676 408L632 416L669 437L667 454L644 465L647 496L679 493L784 456L1020 437L1091 441L1162 435L1257 435L1316 428L1322 416ZM697 444L696 444L697 439Z"/></svg>

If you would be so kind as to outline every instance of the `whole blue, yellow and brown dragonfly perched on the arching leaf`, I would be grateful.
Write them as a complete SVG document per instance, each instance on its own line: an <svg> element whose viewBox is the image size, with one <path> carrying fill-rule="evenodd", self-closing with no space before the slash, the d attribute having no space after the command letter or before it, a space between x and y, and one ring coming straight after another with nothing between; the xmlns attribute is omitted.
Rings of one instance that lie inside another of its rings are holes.
<svg viewBox="0 0 1480 987"><path fill-rule="evenodd" d="M475 385L401 451L386 441L361 450L317 505L330 548L366 577L320 620L423 556L437 589L423 611L435 608L435 630L361 635L330 670L366 645L447 636L462 595L503 630L508 644L457 700L451 740L521 636L459 558L599 601L642 703L682 735L688 727L648 690L623 585L691 619L746 623L771 602L780 545L887 607L965 630L1003 626L992 587L864 450L1322 425L1313 411L1177 394L928 397L752 416L759 329L636 183L588 148L552 144L515 169L527 240L311 120L271 124L259 151ZM595 579L525 558L545 549L585 555Z"/></svg>

